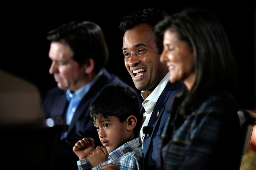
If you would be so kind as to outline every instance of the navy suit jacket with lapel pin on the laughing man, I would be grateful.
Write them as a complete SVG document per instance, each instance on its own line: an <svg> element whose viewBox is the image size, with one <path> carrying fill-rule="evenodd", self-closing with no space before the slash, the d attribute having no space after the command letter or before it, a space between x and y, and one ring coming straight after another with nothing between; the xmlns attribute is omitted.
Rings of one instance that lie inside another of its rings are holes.
<svg viewBox="0 0 256 170"><path fill-rule="evenodd" d="M148 127L150 127L150 134L143 140L143 169L155 169L158 161L159 153L159 141L161 139L161 134L165 126L165 122L168 118L169 113L168 108L171 104L175 94L184 84L181 82L170 83L168 82L165 89L159 96L157 103L155 104L154 110L150 116ZM157 116L157 112L159 114ZM143 117L145 109L141 110L141 117ZM161 121L162 120L162 121Z"/></svg>

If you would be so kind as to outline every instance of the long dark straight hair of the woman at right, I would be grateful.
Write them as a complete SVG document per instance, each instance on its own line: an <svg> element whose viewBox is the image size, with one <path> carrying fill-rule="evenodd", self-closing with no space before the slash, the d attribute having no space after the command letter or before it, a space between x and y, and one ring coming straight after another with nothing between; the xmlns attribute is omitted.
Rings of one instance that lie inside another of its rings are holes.
<svg viewBox="0 0 256 170"><path fill-rule="evenodd" d="M230 44L219 20L208 10L186 8L158 23L159 37L166 29L193 48L195 82L182 103L191 111L209 95L235 93L236 69Z"/></svg>

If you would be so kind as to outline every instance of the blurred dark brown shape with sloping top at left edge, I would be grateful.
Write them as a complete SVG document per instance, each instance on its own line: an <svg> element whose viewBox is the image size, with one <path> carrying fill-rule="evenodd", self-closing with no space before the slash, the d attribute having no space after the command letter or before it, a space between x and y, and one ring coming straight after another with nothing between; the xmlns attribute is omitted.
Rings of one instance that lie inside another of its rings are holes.
<svg viewBox="0 0 256 170"><path fill-rule="evenodd" d="M42 119L38 88L0 69L0 124Z"/></svg>

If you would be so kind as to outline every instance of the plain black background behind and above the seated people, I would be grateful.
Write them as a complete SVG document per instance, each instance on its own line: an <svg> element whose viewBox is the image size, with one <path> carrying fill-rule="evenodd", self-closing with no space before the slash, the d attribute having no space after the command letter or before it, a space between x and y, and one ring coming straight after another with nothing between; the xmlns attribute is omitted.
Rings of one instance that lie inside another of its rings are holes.
<svg viewBox="0 0 256 170"><path fill-rule="evenodd" d="M255 108L255 2L157 2L3 5L0 68L29 80L45 94L56 86L48 72L51 61L47 32L73 20L89 20L97 23L105 34L110 54L107 70L134 87L121 50L123 33L118 28L121 16L138 8L155 7L171 15L185 7L204 6L219 18L230 40L239 73L238 103L244 109Z"/></svg>

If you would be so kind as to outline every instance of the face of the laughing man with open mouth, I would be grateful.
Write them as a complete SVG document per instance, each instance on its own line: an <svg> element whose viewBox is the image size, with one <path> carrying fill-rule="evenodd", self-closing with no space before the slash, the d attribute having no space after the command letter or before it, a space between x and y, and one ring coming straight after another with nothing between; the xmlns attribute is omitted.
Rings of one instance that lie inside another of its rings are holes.
<svg viewBox="0 0 256 170"><path fill-rule="evenodd" d="M123 54L125 66L134 85L139 90L151 93L168 73L167 67L159 60L157 39L152 27L139 24L125 31Z"/></svg>

